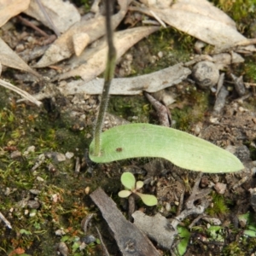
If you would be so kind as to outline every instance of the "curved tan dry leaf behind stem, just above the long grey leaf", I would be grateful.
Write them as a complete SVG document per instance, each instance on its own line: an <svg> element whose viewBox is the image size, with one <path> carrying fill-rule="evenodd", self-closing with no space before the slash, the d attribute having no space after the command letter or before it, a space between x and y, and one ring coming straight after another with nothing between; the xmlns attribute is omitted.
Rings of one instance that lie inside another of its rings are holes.
<svg viewBox="0 0 256 256"><path fill-rule="evenodd" d="M142 38L147 37L149 34L159 29L159 26L143 26L114 33L113 38L117 50L117 58L123 55L127 49L130 49L133 44L136 44ZM95 79L96 76L105 70L107 52L108 45L105 42L105 44L102 44L101 49L96 49L96 52L90 56L90 59L88 59L86 63L67 73L61 74L56 79L67 79L75 76L80 76L84 79L84 82L89 82L91 79ZM81 55L80 57L84 59L84 55Z"/></svg>

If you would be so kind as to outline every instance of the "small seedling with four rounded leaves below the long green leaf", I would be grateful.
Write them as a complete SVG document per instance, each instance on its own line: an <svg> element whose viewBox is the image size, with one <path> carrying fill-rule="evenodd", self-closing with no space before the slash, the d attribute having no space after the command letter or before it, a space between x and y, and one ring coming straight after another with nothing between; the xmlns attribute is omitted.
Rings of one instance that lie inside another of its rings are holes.
<svg viewBox="0 0 256 256"><path fill-rule="evenodd" d="M132 193L138 195L143 203L148 207L153 207L157 204L157 199L154 195L145 195L137 192L138 189L143 188L143 181L137 181L131 172L124 172L121 176L121 183L125 186L125 190L119 192L119 197L125 198Z"/></svg>

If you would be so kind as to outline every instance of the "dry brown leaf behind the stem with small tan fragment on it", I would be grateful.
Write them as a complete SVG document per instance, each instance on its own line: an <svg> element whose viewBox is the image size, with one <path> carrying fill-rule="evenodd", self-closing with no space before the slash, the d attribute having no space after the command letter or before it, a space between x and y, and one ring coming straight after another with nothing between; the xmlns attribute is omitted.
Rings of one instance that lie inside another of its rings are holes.
<svg viewBox="0 0 256 256"><path fill-rule="evenodd" d="M113 15L112 24L113 29L119 25L127 12L127 8L131 0L119 0L119 13ZM86 33L89 38L88 44L101 38L106 32L105 17L97 16L91 20L81 20L74 24L67 32L61 35L54 44L50 45L44 56L34 67L47 67L58 61L69 58L74 53L73 35L79 33ZM88 40L87 40L88 41ZM79 50L80 51L80 50Z"/></svg>

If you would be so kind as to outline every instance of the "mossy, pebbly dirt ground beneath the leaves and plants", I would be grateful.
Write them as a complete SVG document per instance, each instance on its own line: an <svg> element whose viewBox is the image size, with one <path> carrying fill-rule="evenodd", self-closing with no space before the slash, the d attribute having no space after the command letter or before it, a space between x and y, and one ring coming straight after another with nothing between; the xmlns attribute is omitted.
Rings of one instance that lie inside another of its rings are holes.
<svg viewBox="0 0 256 256"><path fill-rule="evenodd" d="M253 21L247 27L249 23ZM44 48L44 39L31 27L16 18L9 26L8 30L1 30L1 37L20 55L35 47ZM20 50L20 44L25 48ZM152 73L189 61L195 55L194 44L194 38L171 28L155 32L121 58L115 76ZM245 82L255 83L254 62L255 54L249 55L245 63L232 65L224 72L242 74ZM38 72L51 78L59 71L53 67ZM3 69L2 79L9 79L32 95L44 87L27 73L11 68ZM245 96L239 96L227 76L224 86L229 96L221 112L214 113L214 93L200 89L191 79L162 92L176 100L168 106L174 127L228 148L245 169L235 174L203 174L199 189L211 188L211 191L194 203L201 205L207 201L206 211L183 219L180 226L188 233L177 236L171 250L159 247L155 241L154 246L160 255L179 255L175 247L180 241L187 241L183 255L253 256L256 253L255 87L247 87ZM90 193L102 187L127 217L128 202L118 197L122 172L132 172L138 180L147 181L143 192L158 199L157 207L145 207L137 200L136 209L149 216L160 212L170 220L183 210L197 172L181 170L166 160L134 159L102 165L90 162L88 148L100 96L57 95L45 98L43 108L17 102L18 99L15 92L0 86L0 212L12 227L0 222L0 255L104 255L96 227L108 253L121 255ZM128 122L160 124L160 119L143 94L111 96L104 129ZM85 232L81 222L90 213L94 215Z"/></svg>

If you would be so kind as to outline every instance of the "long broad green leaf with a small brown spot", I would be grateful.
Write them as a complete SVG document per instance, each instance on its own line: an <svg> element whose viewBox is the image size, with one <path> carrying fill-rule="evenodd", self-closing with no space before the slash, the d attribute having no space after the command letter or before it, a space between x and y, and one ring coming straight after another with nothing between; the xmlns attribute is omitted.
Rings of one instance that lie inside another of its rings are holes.
<svg viewBox="0 0 256 256"><path fill-rule="evenodd" d="M198 172L237 172L244 167L234 154L201 138L175 129L149 124L120 125L102 133L102 154L90 159L108 163L137 157L160 157Z"/></svg>

